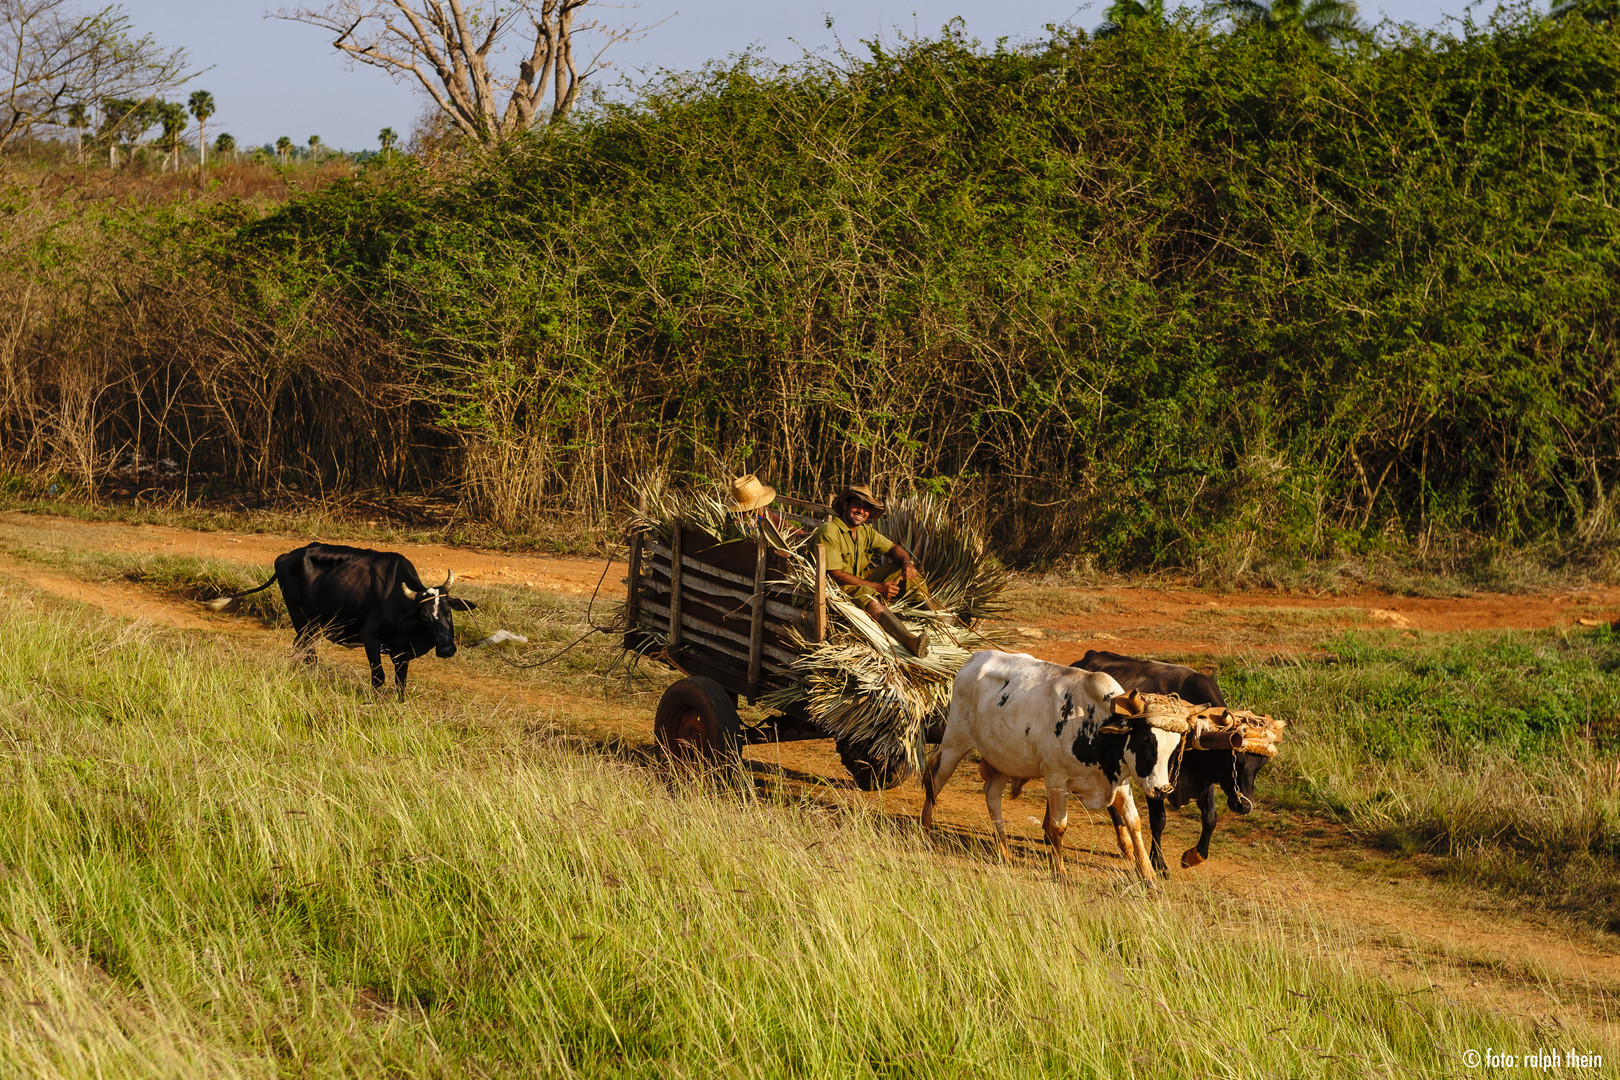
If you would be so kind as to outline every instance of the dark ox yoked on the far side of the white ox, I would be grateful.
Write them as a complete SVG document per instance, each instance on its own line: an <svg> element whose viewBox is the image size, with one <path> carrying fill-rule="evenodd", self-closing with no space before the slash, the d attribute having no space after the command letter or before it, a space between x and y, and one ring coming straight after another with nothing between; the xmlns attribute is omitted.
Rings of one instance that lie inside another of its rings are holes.
<svg viewBox="0 0 1620 1080"><path fill-rule="evenodd" d="M1126 693L1140 690L1142 693L1174 693L1183 701L1192 704L1226 704L1220 687L1204 672L1196 672L1181 664L1162 664L1144 661L1118 653L1092 649L1072 667L1089 672L1105 672L1115 677ZM1215 789L1226 792L1226 805L1234 814L1246 814L1254 810L1254 777L1265 764L1265 755L1244 753L1241 750L1192 750L1183 755L1181 771L1176 774L1176 787L1162 798L1147 797L1147 824L1153 831L1153 868L1168 874L1165 852L1160 840L1165 836L1165 803L1181 810L1189 801L1197 800L1204 814L1204 831L1199 834L1197 847L1189 847L1181 855L1181 866L1191 870L1210 857L1210 837L1215 836ZM1108 808L1115 813L1113 808ZM1115 827L1121 821L1115 816Z"/></svg>

